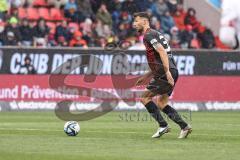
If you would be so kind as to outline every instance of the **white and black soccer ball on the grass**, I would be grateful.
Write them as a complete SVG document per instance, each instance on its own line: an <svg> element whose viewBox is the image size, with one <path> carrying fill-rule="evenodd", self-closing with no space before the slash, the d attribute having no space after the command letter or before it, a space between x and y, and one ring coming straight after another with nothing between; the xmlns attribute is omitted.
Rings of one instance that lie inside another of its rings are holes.
<svg viewBox="0 0 240 160"><path fill-rule="evenodd" d="M80 131L80 126L75 121L68 121L64 125L64 132L68 136L76 136L79 131Z"/></svg>

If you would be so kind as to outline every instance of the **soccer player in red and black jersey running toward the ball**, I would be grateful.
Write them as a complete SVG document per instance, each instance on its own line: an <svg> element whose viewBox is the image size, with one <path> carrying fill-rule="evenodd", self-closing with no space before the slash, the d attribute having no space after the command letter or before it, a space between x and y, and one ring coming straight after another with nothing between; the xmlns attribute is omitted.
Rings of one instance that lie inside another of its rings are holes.
<svg viewBox="0 0 240 160"><path fill-rule="evenodd" d="M147 85L147 90L141 97L141 102L159 124L158 130L152 138L159 138L170 131L160 110L180 126L181 132L178 138L187 138L192 131L191 126L181 118L174 108L168 105L169 96L178 79L178 70L171 48L163 34L151 29L149 23L150 17L146 12L134 14L133 27L138 32L144 34L143 42L146 47L146 57L150 67L150 71L139 78L136 85L142 85L146 83L148 78L152 77ZM152 98L157 95L160 96L157 97L157 104L155 104Z"/></svg>

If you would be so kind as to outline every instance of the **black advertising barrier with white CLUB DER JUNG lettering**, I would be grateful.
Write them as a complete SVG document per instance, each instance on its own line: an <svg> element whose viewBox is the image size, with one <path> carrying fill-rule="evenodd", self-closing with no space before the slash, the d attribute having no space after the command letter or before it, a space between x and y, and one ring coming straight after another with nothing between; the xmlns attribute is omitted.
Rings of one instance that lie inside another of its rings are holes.
<svg viewBox="0 0 240 160"><path fill-rule="evenodd" d="M71 74L140 75L148 69L144 51L0 48L0 73L24 74L21 68L26 56L30 57L36 74L51 74L64 62L67 65L55 74L71 71ZM98 64L93 57L103 63ZM180 75L240 75L238 51L174 51L174 59ZM86 61L89 65L82 65ZM74 65L79 67L72 71Z"/></svg>

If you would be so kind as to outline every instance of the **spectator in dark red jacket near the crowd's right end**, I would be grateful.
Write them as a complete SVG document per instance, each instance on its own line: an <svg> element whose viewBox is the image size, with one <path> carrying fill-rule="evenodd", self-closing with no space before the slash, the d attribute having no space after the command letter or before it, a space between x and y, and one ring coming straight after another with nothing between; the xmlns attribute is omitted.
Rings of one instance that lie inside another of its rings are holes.
<svg viewBox="0 0 240 160"><path fill-rule="evenodd" d="M187 11L187 14L184 18L184 24L185 25L191 25L194 31L197 31L197 28L199 27L199 22L196 18L196 11L193 8L189 8Z"/></svg>

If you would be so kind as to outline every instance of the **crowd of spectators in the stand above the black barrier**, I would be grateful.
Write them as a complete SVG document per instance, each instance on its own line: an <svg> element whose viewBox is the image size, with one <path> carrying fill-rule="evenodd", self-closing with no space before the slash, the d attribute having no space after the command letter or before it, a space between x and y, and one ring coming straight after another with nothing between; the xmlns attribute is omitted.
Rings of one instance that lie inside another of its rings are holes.
<svg viewBox="0 0 240 160"><path fill-rule="evenodd" d="M56 8L63 16L31 19L20 13L27 8ZM226 48L197 20L193 8L183 9L182 0L0 0L0 46L87 48L116 43L138 49L143 37L132 28L132 15L139 11L149 13L151 26L164 33L173 48Z"/></svg>

